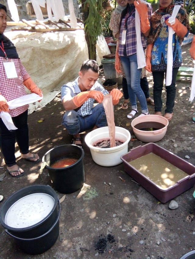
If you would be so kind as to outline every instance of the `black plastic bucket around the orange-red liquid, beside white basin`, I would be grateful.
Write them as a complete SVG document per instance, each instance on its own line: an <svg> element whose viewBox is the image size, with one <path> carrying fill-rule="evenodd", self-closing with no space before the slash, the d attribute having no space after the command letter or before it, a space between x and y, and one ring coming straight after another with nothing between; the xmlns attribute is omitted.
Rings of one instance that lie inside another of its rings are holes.
<svg viewBox="0 0 195 259"><path fill-rule="evenodd" d="M61 145L50 149L42 158L42 162L47 162L53 187L60 193L74 193L79 190L85 180L83 166L84 151L77 145ZM54 162L64 158L78 159L74 164L62 168L52 168Z"/></svg>

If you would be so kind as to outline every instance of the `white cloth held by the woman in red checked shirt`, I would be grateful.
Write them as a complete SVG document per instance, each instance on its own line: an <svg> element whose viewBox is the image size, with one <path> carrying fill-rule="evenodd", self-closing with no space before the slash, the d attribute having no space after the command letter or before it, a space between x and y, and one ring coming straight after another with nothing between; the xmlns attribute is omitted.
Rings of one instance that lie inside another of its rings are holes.
<svg viewBox="0 0 195 259"><path fill-rule="evenodd" d="M20 107L20 106L23 106L25 104L30 104L30 103L34 103L36 101L39 101L43 99L43 95L42 97L40 97L38 94L27 94L27 95L24 95L22 97L19 97L19 98L16 98L16 99L13 99L8 103L9 105L9 109L14 109L16 107ZM16 126L13 124L13 121L12 121L12 117L10 116L10 114L8 112L5 112L5 111L1 111L1 118L2 118L2 121L4 122L5 126L9 129L9 130L16 130Z"/></svg>

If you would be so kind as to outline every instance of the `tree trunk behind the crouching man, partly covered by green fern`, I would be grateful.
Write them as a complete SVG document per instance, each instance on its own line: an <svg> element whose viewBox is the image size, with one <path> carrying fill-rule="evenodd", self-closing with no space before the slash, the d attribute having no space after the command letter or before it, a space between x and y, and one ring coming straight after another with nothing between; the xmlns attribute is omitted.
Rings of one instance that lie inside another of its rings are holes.
<svg viewBox="0 0 195 259"><path fill-rule="evenodd" d="M87 5L85 5L85 8L84 8L84 4L83 4L84 2L85 2L85 0L82 0L83 23L85 26L85 21L89 15L89 9L88 9ZM84 30L84 32L85 32L85 40L87 42L87 47L88 47L89 59L96 60L96 58L97 58L96 43L92 42L91 36L88 33L86 33L86 30Z"/></svg>

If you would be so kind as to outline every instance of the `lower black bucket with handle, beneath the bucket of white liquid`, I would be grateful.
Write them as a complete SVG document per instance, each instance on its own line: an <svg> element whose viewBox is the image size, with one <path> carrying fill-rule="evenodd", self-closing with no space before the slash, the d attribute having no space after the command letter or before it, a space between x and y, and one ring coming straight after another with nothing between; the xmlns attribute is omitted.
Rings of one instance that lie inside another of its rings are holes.
<svg viewBox="0 0 195 259"><path fill-rule="evenodd" d="M59 210L58 216L52 225L52 227L40 237L35 238L20 238L14 236L7 229L5 232L8 233L11 237L15 238L16 244L18 247L26 252L27 254L42 254L48 249L50 249L56 242L59 236L59 216L60 216L60 202L58 199Z"/></svg>

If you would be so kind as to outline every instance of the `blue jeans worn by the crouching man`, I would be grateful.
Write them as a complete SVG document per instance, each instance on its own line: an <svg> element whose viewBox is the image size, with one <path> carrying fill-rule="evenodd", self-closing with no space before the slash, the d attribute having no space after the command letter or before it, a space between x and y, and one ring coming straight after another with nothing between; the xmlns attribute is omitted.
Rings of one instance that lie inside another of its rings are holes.
<svg viewBox="0 0 195 259"><path fill-rule="evenodd" d="M106 126L106 114L103 104L97 104L92 109L92 114L81 117L77 111L66 111L63 116L62 125L65 126L70 135L76 135L83 131L92 129L95 125L98 128Z"/></svg>

